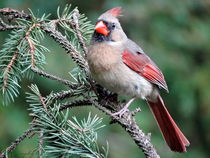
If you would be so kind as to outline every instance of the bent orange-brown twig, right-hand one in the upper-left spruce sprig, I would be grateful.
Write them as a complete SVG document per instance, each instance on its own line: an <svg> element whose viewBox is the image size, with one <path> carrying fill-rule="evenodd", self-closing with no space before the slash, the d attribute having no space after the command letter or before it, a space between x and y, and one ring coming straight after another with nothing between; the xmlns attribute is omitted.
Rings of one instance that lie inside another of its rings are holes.
<svg viewBox="0 0 210 158"><path fill-rule="evenodd" d="M31 31L32 31L36 26L40 26L40 24L33 24L33 25L31 25L31 26L29 27L28 31L26 32L26 36L25 36L25 39L26 39L26 41L28 42L29 49L30 49L30 52L31 52L31 67L32 67L32 68L34 67L34 45L33 45L32 41L30 40L29 35L30 35Z"/></svg>

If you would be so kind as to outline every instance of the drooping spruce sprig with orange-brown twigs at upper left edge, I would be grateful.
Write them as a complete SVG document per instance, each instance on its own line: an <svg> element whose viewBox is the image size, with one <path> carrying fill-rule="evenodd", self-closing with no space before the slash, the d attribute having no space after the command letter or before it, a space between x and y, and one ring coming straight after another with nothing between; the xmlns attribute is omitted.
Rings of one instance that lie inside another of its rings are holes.
<svg viewBox="0 0 210 158"><path fill-rule="evenodd" d="M17 24L22 28L11 31L3 49L0 50L0 87L3 104L14 101L14 97L19 94L19 81L25 77L32 78L33 73L30 72L30 68L32 66L42 68L45 64L44 53L49 52L41 45L44 33L39 25L36 26L37 23L44 22L47 17L36 19L33 14L31 15L32 22L24 19L17 20Z"/></svg>

